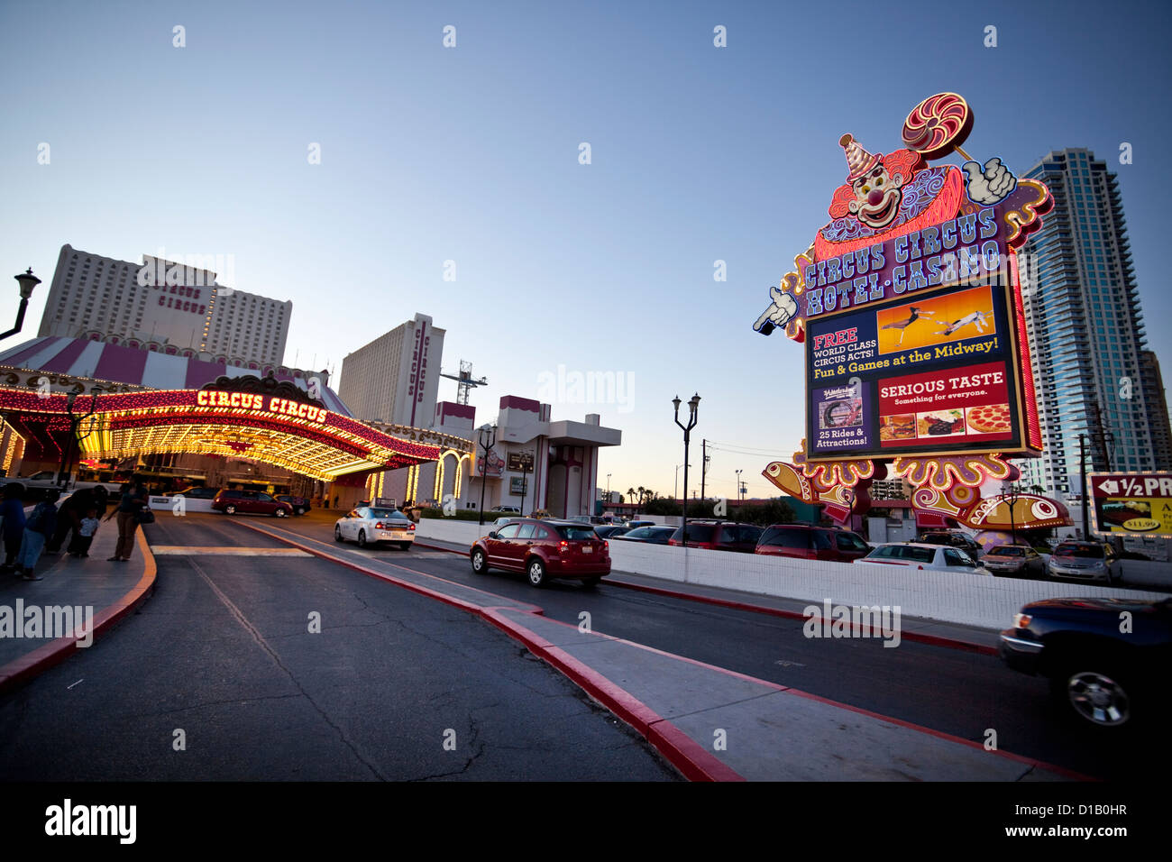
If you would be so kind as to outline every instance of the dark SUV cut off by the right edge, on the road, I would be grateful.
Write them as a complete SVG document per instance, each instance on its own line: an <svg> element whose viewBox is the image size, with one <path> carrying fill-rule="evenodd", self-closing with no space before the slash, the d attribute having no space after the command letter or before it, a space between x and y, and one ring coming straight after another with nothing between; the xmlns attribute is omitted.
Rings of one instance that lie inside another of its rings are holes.
<svg viewBox="0 0 1172 862"><path fill-rule="evenodd" d="M1088 725L1154 725L1168 712L1172 598L1031 602L1001 632L1001 658L1048 677L1055 699Z"/></svg>

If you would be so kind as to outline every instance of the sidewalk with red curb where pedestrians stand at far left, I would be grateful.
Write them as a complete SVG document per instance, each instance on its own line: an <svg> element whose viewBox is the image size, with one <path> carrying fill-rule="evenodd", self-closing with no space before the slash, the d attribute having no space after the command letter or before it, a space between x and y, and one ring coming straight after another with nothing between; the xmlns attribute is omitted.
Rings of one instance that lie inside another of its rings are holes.
<svg viewBox="0 0 1172 862"><path fill-rule="evenodd" d="M49 618L53 611L46 609L81 608L83 618L87 612L93 615L93 639L97 639L142 604L154 589L155 558L141 528L136 539L136 552L129 563L105 562L114 556L118 527L114 518L103 521L88 557L70 557L66 552L68 545L63 545L59 554L41 555L38 561L36 573L43 581L22 581L13 575L0 578L0 608L15 617L21 633L27 631L26 612L30 609ZM54 638L54 633L42 630L40 637L33 638L0 636L0 693L66 660L75 649L86 649L79 646L76 637ZM83 634L82 639L88 638Z"/></svg>

